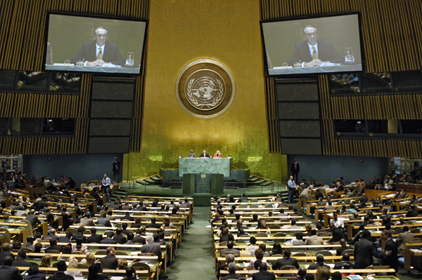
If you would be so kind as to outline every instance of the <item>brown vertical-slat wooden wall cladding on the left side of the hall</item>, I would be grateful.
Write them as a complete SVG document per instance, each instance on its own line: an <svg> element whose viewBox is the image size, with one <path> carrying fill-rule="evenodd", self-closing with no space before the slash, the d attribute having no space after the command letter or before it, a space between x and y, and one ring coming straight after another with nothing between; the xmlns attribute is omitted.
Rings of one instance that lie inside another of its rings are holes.
<svg viewBox="0 0 422 280"><path fill-rule="evenodd" d="M47 11L148 19L150 0L4 0L0 1L0 69L41 71ZM145 62L145 61L144 61ZM143 63L145 65L145 63ZM143 67L145 73L145 66ZM91 79L82 74L80 94L3 91L0 117L76 119L75 136L0 138L1 154L80 154L87 152ZM136 112L131 151L141 147L143 76L136 78Z"/></svg>

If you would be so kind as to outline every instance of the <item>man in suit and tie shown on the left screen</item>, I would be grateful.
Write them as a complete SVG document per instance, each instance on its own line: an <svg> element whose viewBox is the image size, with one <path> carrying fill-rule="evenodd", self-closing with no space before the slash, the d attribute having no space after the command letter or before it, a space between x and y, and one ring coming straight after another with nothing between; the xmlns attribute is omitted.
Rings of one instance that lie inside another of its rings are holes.
<svg viewBox="0 0 422 280"><path fill-rule="evenodd" d="M77 61L83 61L84 66L99 67L123 65L124 58L120 54L119 46L108 42L107 39L107 29L102 26L96 27L94 29L94 41L82 44L70 63L76 64Z"/></svg>

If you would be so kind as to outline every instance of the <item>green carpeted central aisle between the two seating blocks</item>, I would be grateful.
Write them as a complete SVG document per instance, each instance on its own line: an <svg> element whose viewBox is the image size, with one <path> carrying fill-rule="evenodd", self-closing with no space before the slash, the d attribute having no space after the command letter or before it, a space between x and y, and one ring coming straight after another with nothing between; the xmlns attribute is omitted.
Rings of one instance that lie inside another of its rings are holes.
<svg viewBox="0 0 422 280"><path fill-rule="evenodd" d="M210 208L195 207L193 223L183 236L176 260L167 267L168 280L216 280L210 225Z"/></svg>

